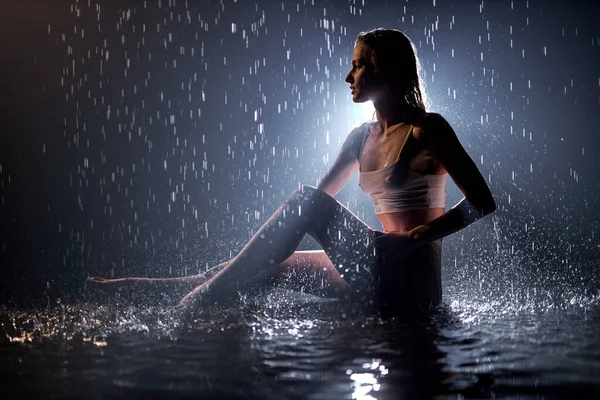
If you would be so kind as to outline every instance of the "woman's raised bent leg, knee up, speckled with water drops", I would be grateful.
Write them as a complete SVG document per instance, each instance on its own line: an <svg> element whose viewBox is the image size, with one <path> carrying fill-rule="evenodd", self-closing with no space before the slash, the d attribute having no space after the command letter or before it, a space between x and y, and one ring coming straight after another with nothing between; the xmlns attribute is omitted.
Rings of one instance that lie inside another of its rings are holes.
<svg viewBox="0 0 600 400"><path fill-rule="evenodd" d="M200 299L213 302L235 297L238 290L290 257L306 233L321 244L355 292L365 294L373 288L378 253L372 239L380 232L370 229L327 193L302 186L226 267L192 290L180 305L189 307Z"/></svg>

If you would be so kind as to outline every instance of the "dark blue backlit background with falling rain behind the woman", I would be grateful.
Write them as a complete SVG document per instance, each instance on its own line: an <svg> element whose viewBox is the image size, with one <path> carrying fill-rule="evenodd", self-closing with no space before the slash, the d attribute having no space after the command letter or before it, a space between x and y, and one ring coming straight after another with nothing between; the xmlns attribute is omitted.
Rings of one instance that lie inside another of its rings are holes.
<svg viewBox="0 0 600 400"><path fill-rule="evenodd" d="M380 26L415 42L430 110L498 203L445 239L446 290L598 295L598 15L584 1L4 0L0 300L235 255L368 119L343 79L357 34ZM357 176L336 197L380 229ZM448 206L460 198L449 185Z"/></svg>

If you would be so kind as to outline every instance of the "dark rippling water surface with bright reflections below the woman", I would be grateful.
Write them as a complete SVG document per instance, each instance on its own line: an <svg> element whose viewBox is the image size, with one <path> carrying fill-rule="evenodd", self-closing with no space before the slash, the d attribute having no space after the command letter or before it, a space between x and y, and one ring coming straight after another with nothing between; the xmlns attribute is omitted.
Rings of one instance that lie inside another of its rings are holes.
<svg viewBox="0 0 600 400"><path fill-rule="evenodd" d="M283 290L190 319L114 304L5 309L0 373L5 393L25 397L594 398L600 308L582 300L454 297L426 321Z"/></svg>

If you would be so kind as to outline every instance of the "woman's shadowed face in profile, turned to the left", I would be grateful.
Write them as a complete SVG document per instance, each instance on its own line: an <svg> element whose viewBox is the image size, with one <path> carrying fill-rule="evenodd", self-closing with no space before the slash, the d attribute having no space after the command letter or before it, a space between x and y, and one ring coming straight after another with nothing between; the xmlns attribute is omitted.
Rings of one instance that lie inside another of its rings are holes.
<svg viewBox="0 0 600 400"><path fill-rule="evenodd" d="M346 75L345 81L350 84L352 101L355 103L374 100L385 89L385 83L367 62L366 46L360 41L354 46L352 69Z"/></svg>

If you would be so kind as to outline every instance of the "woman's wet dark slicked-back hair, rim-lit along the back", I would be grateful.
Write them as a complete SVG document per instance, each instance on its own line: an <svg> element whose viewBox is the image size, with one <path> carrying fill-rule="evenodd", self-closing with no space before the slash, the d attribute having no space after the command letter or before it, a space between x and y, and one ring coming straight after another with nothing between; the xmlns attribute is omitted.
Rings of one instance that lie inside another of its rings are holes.
<svg viewBox="0 0 600 400"><path fill-rule="evenodd" d="M377 28L361 32L356 40L366 47L368 67L381 74L398 100L415 111L425 111L421 62L408 36L396 29Z"/></svg>

